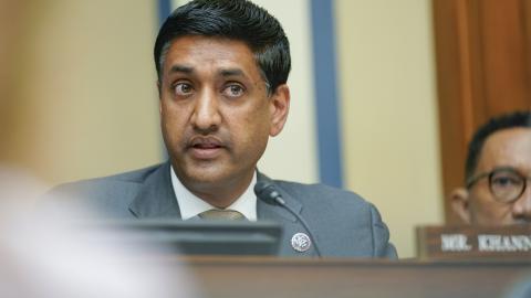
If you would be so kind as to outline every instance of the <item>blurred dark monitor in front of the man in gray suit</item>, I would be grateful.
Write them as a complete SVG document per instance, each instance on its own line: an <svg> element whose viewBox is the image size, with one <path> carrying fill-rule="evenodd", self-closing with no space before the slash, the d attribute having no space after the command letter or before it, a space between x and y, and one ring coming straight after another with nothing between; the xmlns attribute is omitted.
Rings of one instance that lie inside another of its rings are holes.
<svg viewBox="0 0 531 298"><path fill-rule="evenodd" d="M139 245L140 253L163 256L278 256L282 235L282 226L268 221L135 219L97 221L85 227L119 231L124 245Z"/></svg>

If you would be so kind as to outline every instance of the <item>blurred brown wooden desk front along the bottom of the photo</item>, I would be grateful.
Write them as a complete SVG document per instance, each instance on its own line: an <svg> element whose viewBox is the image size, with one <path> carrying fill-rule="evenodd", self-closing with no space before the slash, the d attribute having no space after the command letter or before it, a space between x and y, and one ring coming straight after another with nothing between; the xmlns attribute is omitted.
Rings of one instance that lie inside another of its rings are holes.
<svg viewBox="0 0 531 298"><path fill-rule="evenodd" d="M446 298L502 297L531 263L195 258L165 266L192 273L201 297Z"/></svg>

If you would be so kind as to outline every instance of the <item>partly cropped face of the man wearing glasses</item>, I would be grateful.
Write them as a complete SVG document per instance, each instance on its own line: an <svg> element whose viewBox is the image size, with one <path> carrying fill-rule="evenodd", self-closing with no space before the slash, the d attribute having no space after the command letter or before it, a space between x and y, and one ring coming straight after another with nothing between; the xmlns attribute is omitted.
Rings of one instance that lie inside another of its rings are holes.
<svg viewBox="0 0 531 298"><path fill-rule="evenodd" d="M460 202L465 221L482 225L504 225L531 223L531 129L511 128L489 136L480 152L475 175L491 172L496 169L510 168L528 181L524 192L514 201L496 200L489 188L489 178L478 180L467 191ZM494 188L503 190L509 181L493 181ZM459 213L459 211L458 211ZM466 214L468 213L468 214Z"/></svg>

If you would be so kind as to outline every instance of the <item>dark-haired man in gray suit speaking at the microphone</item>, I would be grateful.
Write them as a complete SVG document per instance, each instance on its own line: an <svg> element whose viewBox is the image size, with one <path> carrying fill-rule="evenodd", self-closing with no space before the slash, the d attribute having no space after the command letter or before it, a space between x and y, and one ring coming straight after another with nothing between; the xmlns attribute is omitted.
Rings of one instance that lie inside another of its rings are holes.
<svg viewBox="0 0 531 298"><path fill-rule="evenodd" d="M56 191L110 217L280 222L284 256L396 257L371 203L325 185L273 181L256 169L290 106L289 42L272 15L244 0L191 1L163 24L154 54L169 161Z"/></svg>

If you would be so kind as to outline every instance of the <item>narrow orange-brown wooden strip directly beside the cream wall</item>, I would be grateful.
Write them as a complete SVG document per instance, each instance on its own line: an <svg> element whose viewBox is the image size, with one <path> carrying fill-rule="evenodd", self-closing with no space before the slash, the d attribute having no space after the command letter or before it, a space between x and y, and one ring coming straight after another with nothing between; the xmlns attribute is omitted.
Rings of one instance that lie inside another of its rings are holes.
<svg viewBox="0 0 531 298"><path fill-rule="evenodd" d="M468 62L467 15L458 0L434 0L436 65L439 98L439 134L445 194L464 181L466 135L470 127L471 83ZM462 2L462 1L461 1ZM459 34L461 32L461 34ZM465 53L465 54L464 54ZM466 100L468 99L468 100ZM462 113L467 115L461 115ZM447 222L456 222L445 201Z"/></svg>

